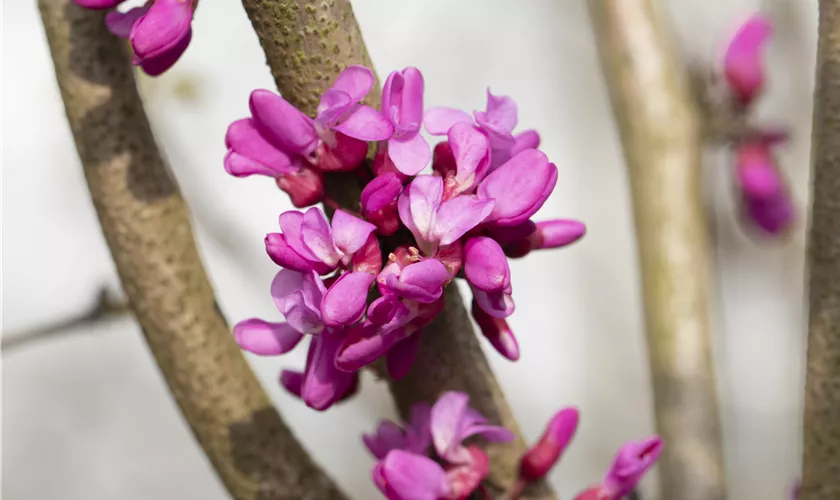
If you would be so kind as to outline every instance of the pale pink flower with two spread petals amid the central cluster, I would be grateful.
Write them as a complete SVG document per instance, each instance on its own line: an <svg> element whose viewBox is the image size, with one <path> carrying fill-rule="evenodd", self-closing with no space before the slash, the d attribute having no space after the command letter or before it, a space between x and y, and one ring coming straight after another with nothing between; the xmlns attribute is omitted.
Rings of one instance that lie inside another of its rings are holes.
<svg viewBox="0 0 840 500"><path fill-rule="evenodd" d="M476 196L458 196L443 201L443 180L418 175L400 195L400 220L414 235L418 248L434 255L439 245L457 241L493 211L496 202Z"/></svg>

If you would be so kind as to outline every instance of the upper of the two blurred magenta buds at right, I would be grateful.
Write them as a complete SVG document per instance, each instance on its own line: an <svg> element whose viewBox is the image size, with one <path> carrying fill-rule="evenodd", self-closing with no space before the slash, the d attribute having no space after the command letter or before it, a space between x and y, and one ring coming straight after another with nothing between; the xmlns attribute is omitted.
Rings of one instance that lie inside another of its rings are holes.
<svg viewBox="0 0 840 500"><path fill-rule="evenodd" d="M760 14L749 18L729 42L723 71L729 88L742 104L751 104L764 86L762 51L773 34L770 20Z"/></svg>

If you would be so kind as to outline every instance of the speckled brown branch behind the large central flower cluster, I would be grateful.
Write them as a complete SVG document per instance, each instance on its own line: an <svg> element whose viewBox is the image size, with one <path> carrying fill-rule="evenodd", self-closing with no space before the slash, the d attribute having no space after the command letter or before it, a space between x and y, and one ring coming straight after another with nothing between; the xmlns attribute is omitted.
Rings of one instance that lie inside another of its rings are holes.
<svg viewBox="0 0 840 500"><path fill-rule="evenodd" d="M286 100L310 116L320 94L342 69L361 64L372 68L349 0L243 0L266 53L277 88ZM379 107L379 86L367 103ZM327 192L343 207L359 209L360 186L352 175L327 176ZM400 414L408 415L417 401L434 402L448 390L469 393L472 406L518 434L518 426L496 382L468 319L458 291L450 286L446 309L423 333L411 373L390 381ZM488 447L492 463L488 483L494 496L512 486L516 464L524 449L514 444ZM523 500L549 500L554 494L538 485Z"/></svg>

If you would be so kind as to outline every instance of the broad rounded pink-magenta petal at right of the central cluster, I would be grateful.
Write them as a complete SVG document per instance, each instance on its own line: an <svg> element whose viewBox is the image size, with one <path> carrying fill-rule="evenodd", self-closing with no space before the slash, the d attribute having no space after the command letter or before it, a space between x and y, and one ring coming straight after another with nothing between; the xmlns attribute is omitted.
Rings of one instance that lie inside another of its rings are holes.
<svg viewBox="0 0 840 500"><path fill-rule="evenodd" d="M557 167L542 152L528 149L488 175L477 192L481 199L496 200L487 220L509 226L534 215L556 182Z"/></svg>

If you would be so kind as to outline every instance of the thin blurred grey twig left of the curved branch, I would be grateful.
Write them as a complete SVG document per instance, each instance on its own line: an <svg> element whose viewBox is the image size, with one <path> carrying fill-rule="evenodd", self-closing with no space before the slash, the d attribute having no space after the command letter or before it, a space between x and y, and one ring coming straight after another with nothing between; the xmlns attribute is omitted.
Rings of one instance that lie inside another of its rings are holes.
<svg viewBox="0 0 840 500"><path fill-rule="evenodd" d="M114 298L107 288L101 288L96 294L96 301L84 311L54 323L29 330L7 333L0 337L0 350L9 352L30 342L37 342L49 337L68 333L77 328L92 326L95 323L131 313L125 302Z"/></svg>

